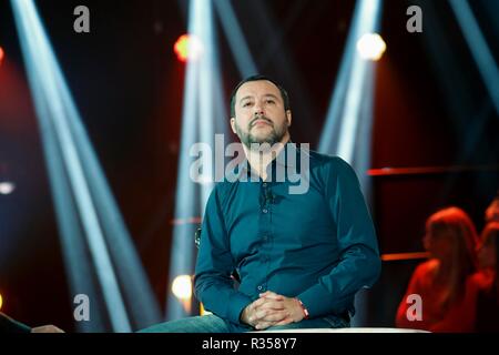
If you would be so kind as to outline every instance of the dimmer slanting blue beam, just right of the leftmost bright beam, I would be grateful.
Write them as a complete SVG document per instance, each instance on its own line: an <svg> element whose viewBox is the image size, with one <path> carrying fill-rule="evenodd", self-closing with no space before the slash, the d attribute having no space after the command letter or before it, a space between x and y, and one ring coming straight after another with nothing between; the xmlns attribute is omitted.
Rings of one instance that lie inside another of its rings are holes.
<svg viewBox="0 0 499 355"><path fill-rule="evenodd" d="M135 245L132 242L111 187L92 148L81 115L70 97L70 90L62 72L55 68L57 82L67 103L68 122L79 150L85 178L100 217L110 255L123 290L126 310L135 328L144 328L161 320L160 305L154 296Z"/></svg>

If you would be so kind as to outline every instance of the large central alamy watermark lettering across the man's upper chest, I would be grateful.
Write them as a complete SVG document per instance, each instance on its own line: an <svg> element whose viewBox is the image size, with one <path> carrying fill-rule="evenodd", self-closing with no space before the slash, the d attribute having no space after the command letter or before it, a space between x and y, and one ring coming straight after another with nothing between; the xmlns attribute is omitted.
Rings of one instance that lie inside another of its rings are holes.
<svg viewBox="0 0 499 355"><path fill-rule="evenodd" d="M275 152L275 164L267 168L268 182L289 182L289 194L305 194L309 187L309 144L302 143L252 143L251 151L256 153ZM225 146L224 135L215 134L215 149L207 143L195 143L189 154L196 160L190 165L190 178L195 183L211 182L258 182L246 160L243 144L231 143ZM227 162L227 160L230 161ZM275 169L275 171L273 171ZM249 173L246 173L249 172Z"/></svg>

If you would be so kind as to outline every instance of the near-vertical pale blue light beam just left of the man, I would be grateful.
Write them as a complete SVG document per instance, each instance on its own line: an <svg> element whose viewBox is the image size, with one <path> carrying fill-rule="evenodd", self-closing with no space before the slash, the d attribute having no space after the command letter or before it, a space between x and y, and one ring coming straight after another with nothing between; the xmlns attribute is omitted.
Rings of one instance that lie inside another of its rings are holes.
<svg viewBox="0 0 499 355"><path fill-rule="evenodd" d="M177 276L194 273L194 232L216 178L213 170L214 136L215 133L228 132L214 22L211 1L190 2L189 33L201 40L203 53L198 59L187 61L185 74L175 223L167 284L167 320L177 320L196 311L187 308L185 301L176 298L171 286ZM204 144L211 150L210 156L201 155L204 161L200 181L193 181L190 174L192 163L200 158L191 155L195 153L191 151L195 143Z"/></svg>

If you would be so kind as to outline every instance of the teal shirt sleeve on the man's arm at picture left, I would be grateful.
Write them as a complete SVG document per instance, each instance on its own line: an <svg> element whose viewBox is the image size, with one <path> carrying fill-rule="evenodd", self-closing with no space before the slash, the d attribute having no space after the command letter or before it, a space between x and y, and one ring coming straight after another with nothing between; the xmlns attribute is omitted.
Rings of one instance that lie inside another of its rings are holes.
<svg viewBox="0 0 499 355"><path fill-rule="evenodd" d="M235 265L217 187L218 185L213 189L208 197L202 224L194 276L195 295L207 311L232 323L241 324L241 312L252 303L252 300L236 291L231 278Z"/></svg>

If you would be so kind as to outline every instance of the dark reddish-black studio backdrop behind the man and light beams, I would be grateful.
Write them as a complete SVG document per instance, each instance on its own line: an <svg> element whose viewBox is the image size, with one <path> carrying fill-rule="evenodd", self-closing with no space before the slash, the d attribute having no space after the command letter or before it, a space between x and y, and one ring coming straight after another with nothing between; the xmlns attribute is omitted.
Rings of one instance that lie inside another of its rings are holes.
<svg viewBox="0 0 499 355"><path fill-rule="evenodd" d="M498 61L499 1L470 1ZM84 125L157 300L164 306L182 119L184 64L173 53L186 31L186 1L37 1ZM91 33L73 31L73 9L91 11ZM288 90L295 142L317 148L354 1L233 1L262 73ZM406 31L419 4L424 33ZM218 26L228 106L240 80ZM377 176L370 202L381 253L418 252L425 219L457 204L478 229L498 189L499 119L447 1L385 1L371 169L465 166L460 173ZM58 227L37 119L10 3L0 0L0 195L2 311L31 325L71 331ZM228 118L227 118L228 119ZM358 172L366 174L367 172ZM368 325L393 326L416 262L385 263Z"/></svg>

